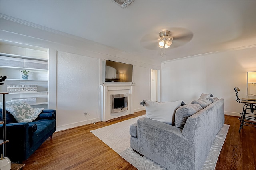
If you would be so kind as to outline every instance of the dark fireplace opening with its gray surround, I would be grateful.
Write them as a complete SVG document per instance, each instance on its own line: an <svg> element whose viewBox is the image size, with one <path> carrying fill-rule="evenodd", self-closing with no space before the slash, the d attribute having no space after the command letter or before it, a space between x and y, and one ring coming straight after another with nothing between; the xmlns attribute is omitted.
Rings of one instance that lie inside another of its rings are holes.
<svg viewBox="0 0 256 170"><path fill-rule="evenodd" d="M112 94L111 95L111 113L122 112L128 110L129 94Z"/></svg>

